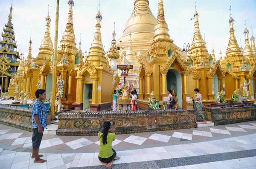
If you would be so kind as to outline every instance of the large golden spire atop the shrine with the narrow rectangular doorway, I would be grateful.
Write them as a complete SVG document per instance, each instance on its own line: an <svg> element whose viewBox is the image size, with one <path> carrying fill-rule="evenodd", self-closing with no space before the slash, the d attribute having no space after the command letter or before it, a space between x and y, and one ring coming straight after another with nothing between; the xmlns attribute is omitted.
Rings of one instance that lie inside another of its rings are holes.
<svg viewBox="0 0 256 169"><path fill-rule="evenodd" d="M93 42L91 43L89 54L87 56L88 61L90 61L90 60L97 60L97 62L101 61L102 59L99 58L99 56L102 56L104 54L102 37L101 37L101 32L100 32L101 20L102 20L102 15L101 15L100 11L98 10L98 12L96 14L96 25L95 25L96 31L94 33Z"/></svg>

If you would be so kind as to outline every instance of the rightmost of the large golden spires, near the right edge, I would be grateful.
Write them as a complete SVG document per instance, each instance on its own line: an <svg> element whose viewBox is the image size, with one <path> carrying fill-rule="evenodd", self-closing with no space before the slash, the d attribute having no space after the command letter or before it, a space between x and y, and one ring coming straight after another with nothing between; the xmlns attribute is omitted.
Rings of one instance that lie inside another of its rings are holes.
<svg viewBox="0 0 256 169"><path fill-rule="evenodd" d="M228 22L230 24L230 39L228 42L225 58L233 57L234 55L241 56L240 47L236 41L236 37L234 34L235 32L234 26L233 26L234 19L231 17L231 6L230 6L230 20Z"/></svg>

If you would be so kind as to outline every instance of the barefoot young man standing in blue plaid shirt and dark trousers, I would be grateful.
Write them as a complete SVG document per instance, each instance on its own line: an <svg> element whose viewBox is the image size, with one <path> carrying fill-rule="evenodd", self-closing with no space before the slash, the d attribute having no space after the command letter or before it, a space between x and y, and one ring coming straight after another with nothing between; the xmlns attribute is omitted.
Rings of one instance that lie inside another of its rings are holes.
<svg viewBox="0 0 256 169"><path fill-rule="evenodd" d="M43 155L39 155L39 147L43 138L44 127L47 126L47 108L42 102L46 98L45 90L36 90L35 97L37 99L32 105L33 153L31 158L35 158L35 163L44 163L46 160L40 158Z"/></svg>

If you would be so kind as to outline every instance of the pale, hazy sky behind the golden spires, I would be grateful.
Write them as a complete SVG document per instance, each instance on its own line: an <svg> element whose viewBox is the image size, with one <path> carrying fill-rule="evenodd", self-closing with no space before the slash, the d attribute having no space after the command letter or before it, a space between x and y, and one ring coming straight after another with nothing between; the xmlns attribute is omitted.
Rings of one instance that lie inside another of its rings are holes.
<svg viewBox="0 0 256 169"><path fill-rule="evenodd" d="M68 0L60 0L59 8L59 29L58 45L66 27L68 15ZM41 41L45 32L44 18L47 16L48 5L51 17L51 38L54 42L55 34L55 13L57 0L13 0L12 23L15 28L15 37L18 49L23 51L26 58L29 48L30 33L32 34L32 56L36 57L39 52ZM196 8L199 14L200 31L205 34L205 41L209 54L212 53L212 45L215 50L215 57L219 59L219 51L225 56L229 41L230 6L232 17L235 20L235 36L240 45L244 48L244 28L245 20L247 28L253 29L256 37L256 0L163 0L165 19L169 26L170 38L175 40L175 44L183 48L184 43L192 43L194 34L193 17ZM1 15L0 26L8 21L9 8L12 0L0 0ZM95 33L96 19L98 11L98 0L74 0L73 24L76 35L76 43L79 44L81 34L81 49L89 51ZM152 13L157 17L158 0L149 0ZM100 0L100 12L102 14L102 42L105 51L110 47L114 22L116 23L116 39L122 37L125 23L131 16L134 8L134 0ZM3 31L3 30L2 30ZM2 37L0 37L2 39ZM79 45L77 45L79 48Z"/></svg>

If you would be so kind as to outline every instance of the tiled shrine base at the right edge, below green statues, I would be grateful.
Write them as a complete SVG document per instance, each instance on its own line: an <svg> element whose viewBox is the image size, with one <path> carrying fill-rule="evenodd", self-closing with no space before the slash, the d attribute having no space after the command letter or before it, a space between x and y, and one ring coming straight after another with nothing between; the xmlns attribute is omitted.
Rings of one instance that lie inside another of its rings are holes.
<svg viewBox="0 0 256 169"><path fill-rule="evenodd" d="M256 120L256 105L244 107L203 107L206 120L215 125L240 123Z"/></svg>

